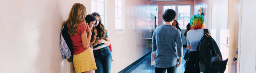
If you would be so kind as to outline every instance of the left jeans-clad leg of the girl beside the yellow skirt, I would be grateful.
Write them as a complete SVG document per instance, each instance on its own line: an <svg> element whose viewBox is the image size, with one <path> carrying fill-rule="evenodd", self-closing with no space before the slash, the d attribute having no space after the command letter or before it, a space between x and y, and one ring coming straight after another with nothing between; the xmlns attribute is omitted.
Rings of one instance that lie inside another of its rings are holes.
<svg viewBox="0 0 256 73"><path fill-rule="evenodd" d="M103 73L101 52L95 52L95 53L93 53L93 55L94 55L96 66L97 66L95 73Z"/></svg>

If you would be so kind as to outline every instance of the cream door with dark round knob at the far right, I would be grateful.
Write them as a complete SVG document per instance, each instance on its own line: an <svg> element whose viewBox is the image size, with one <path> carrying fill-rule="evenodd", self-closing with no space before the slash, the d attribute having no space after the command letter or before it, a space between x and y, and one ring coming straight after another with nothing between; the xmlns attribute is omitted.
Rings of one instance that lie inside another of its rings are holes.
<svg viewBox="0 0 256 73"><path fill-rule="evenodd" d="M237 61L233 58L237 58L238 47L238 29L239 29L239 0L229 0L228 5L228 67L226 72L236 73Z"/></svg>

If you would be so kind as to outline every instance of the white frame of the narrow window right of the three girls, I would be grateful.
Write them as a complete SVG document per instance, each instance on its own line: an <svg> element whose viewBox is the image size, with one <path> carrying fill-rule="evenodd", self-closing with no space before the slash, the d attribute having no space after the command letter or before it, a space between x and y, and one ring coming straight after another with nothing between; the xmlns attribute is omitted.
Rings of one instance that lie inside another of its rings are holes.
<svg viewBox="0 0 256 73"><path fill-rule="evenodd" d="M115 1L117 1L117 0L115 0ZM117 2L115 2L115 3L117 3ZM115 9L116 8L118 8L117 6L115 6ZM117 29L117 28L115 28L115 33L124 33L125 32L125 0L122 0L122 18L121 18L121 20L122 20L122 28L120 28L120 29ZM115 13L115 14L117 14L117 13ZM115 19L120 19L120 18L115 18ZM115 24L116 25L116 24Z"/></svg>

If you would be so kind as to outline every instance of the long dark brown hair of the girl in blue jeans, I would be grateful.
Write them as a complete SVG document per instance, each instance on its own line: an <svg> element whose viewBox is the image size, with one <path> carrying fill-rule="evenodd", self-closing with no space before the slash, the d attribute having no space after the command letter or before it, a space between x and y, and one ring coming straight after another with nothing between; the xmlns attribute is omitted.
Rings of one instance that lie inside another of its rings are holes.
<svg viewBox="0 0 256 73"><path fill-rule="evenodd" d="M97 37L100 38L100 37L103 37L103 36L104 36L103 39L107 39L107 38L106 38L107 30L105 29L104 25L102 24L102 19L100 18L100 14L97 13L97 12L93 12L92 15L93 15L93 16L99 16L99 19L100 19L99 24L98 24L97 26L95 26L95 27L92 29L92 30L93 30L92 32L94 32L94 30L96 29L96 30L98 31ZM96 34L96 33L95 33L95 34Z"/></svg>

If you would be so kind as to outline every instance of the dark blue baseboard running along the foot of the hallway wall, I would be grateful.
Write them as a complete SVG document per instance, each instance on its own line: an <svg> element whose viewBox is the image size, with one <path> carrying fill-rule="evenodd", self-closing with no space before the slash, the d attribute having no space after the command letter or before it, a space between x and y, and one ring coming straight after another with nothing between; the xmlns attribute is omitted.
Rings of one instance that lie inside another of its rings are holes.
<svg viewBox="0 0 256 73"><path fill-rule="evenodd" d="M127 66L126 68L124 68L123 70L121 70L120 72L118 73L125 73L127 72L129 69L131 69L133 66L135 66L136 64L138 64L139 62L141 62L144 58L146 58L148 55L150 54L147 53L146 55L144 55L143 57L139 58L137 61L133 62L131 65Z"/></svg>

